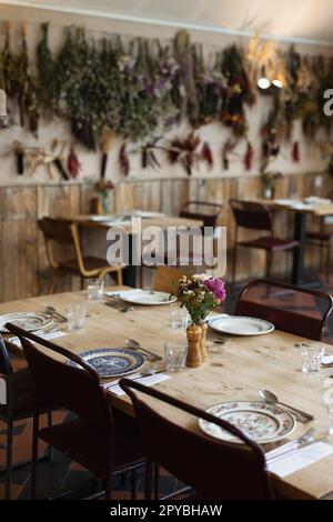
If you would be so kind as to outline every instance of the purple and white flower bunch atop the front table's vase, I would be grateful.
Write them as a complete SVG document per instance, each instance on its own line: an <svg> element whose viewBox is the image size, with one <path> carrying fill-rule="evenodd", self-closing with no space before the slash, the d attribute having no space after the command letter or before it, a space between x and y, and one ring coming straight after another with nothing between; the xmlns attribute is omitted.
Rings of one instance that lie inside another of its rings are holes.
<svg viewBox="0 0 333 522"><path fill-rule="evenodd" d="M225 284L221 279L204 273L183 275L179 280L176 297L193 324L200 324L208 314L225 300Z"/></svg>

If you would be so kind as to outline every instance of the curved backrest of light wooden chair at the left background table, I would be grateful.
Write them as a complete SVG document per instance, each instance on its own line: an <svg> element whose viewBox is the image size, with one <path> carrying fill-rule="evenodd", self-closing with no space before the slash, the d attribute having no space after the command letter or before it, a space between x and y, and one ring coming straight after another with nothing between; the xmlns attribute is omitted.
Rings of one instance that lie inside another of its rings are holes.
<svg viewBox="0 0 333 522"><path fill-rule="evenodd" d="M43 232L47 255L52 268L58 268L58 261L54 252L54 244L70 245L75 251L80 271L84 271L84 262L81 250L80 233L78 225L63 219L42 218L38 221L40 230Z"/></svg>

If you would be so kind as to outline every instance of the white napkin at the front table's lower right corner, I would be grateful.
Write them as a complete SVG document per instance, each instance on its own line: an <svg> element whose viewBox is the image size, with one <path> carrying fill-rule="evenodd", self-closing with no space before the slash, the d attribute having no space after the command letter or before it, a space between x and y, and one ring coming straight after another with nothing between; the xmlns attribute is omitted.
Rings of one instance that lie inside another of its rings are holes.
<svg viewBox="0 0 333 522"><path fill-rule="evenodd" d="M325 442L315 442L314 444L301 448L290 455L281 456L275 462L268 462L268 468L272 473L279 476L291 475L295 471L306 468L314 462L324 459L333 453L333 445Z"/></svg>

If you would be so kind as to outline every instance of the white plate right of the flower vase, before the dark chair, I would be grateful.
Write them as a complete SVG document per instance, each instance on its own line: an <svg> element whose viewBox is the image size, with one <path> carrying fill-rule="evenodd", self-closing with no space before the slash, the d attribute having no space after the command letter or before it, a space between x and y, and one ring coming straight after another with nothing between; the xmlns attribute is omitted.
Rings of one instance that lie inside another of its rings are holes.
<svg viewBox="0 0 333 522"><path fill-rule="evenodd" d="M209 325L230 335L263 335L274 330L274 324L269 321L241 315L216 317L209 321Z"/></svg>

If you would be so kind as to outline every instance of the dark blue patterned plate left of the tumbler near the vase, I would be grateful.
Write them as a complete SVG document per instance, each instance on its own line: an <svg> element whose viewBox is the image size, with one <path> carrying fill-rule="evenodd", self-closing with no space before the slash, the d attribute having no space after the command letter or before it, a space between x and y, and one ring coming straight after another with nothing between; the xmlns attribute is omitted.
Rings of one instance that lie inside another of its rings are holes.
<svg viewBox="0 0 333 522"><path fill-rule="evenodd" d="M80 353L101 378L121 377L132 373L145 363L142 353L129 348L99 348ZM73 361L70 364L77 365Z"/></svg>

